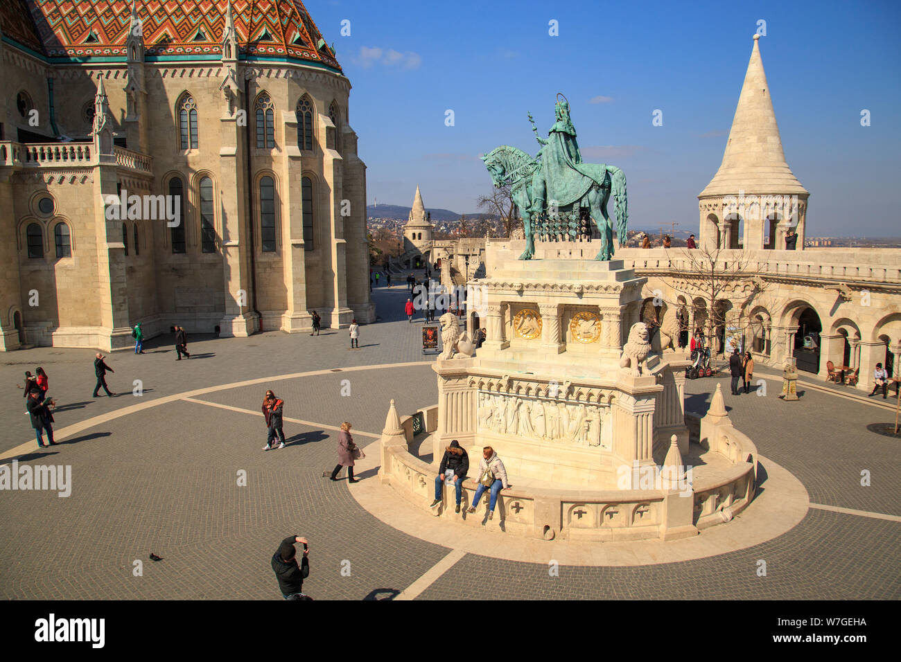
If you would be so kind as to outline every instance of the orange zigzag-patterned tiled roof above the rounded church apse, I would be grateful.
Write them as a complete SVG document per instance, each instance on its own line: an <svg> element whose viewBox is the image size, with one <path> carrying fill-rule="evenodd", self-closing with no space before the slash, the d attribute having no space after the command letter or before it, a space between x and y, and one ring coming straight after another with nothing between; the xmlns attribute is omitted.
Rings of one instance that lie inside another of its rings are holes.
<svg viewBox="0 0 901 662"><path fill-rule="evenodd" d="M125 56L129 0L24 1L50 58ZM146 55L217 57L227 5L228 0L137 0ZM300 0L232 0L232 16L247 57L301 59L341 70Z"/></svg>

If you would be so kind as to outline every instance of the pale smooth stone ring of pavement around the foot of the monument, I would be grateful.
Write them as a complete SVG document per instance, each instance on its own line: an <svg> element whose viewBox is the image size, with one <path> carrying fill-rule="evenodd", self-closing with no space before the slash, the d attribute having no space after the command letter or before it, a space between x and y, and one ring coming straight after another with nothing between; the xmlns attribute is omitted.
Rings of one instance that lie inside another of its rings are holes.
<svg viewBox="0 0 901 662"><path fill-rule="evenodd" d="M357 460L358 474L377 474L378 443L370 443L367 457ZM728 526L711 527L701 535L669 541L546 541L506 534L504 522L498 520L487 521L478 531L446 517L433 517L428 503L416 508L378 479L354 485L350 494L388 526L469 554L529 563L554 560L564 566L646 566L748 549L793 529L804 519L810 503L804 485L768 458L760 457L759 465L766 480L759 485L754 500Z"/></svg>

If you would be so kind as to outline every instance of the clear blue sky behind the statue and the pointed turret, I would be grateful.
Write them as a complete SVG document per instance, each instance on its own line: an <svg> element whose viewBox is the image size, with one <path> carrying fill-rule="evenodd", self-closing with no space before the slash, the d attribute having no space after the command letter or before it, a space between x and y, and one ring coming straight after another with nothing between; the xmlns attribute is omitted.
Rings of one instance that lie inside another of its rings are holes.
<svg viewBox="0 0 901 662"><path fill-rule="evenodd" d="M305 4L353 86L370 204L412 204L418 184L428 207L478 211L491 187L478 155L534 154L526 112L546 135L562 92L583 158L625 171L630 225L695 230L764 20L787 162L811 193L808 236L901 235L901 2Z"/></svg>

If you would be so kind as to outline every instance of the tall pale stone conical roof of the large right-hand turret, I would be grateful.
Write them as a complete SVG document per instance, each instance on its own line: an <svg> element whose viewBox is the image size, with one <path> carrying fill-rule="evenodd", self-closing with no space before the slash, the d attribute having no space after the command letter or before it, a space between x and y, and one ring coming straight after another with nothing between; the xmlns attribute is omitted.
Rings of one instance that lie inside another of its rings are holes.
<svg viewBox="0 0 901 662"><path fill-rule="evenodd" d="M786 163L776 113L769 98L767 75L760 59L760 35L744 75L723 163L698 197L707 195L807 194Z"/></svg>

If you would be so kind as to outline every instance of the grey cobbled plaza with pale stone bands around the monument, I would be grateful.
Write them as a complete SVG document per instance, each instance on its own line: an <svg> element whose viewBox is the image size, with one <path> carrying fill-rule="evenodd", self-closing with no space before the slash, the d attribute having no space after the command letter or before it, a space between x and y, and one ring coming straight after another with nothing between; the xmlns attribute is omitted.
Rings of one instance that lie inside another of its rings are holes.
<svg viewBox="0 0 901 662"><path fill-rule="evenodd" d="M305 592L316 599L898 599L901 469L897 440L867 430L894 420L881 403L799 385L796 403L732 396L728 377L687 382L687 409L705 413L715 384L732 420L768 465L803 485L809 507L772 540L675 563L561 565L549 574L542 541L532 562L436 544L393 528L363 507L358 485L323 478L336 462L337 429L353 423L362 446L378 440L388 401L402 415L437 401L421 322L403 314L403 286L377 289L379 321L319 337L267 332L246 339L188 339L192 358L175 362L169 336L146 354L115 352L114 398L92 398L89 349L41 348L4 356L0 393L3 461L69 465L72 491L0 493L7 522L0 540L4 599L281 599L269 567L289 534L310 540ZM42 366L59 402L61 443L35 449L23 415L23 370ZM143 394L135 396L134 381ZM344 381L347 380L347 381ZM350 395L342 389L350 387ZM263 452L262 395L286 402L285 449ZM502 449L501 449L502 451ZM378 449L367 449L369 460ZM502 452L503 457L503 452ZM372 463L369 462L369 465ZM364 464L363 467L369 465ZM778 467L774 467L778 466ZM361 468L363 468L361 467ZM870 485L862 486L861 472ZM246 474L246 485L238 485ZM764 477L761 494L768 488ZM752 518L757 503L736 518ZM423 503L423 511L426 504ZM410 508L397 501L397 508ZM716 527L728 536L732 524ZM710 535L700 534L698 540ZM496 535L486 533L486 535ZM153 552L163 558L154 563ZM133 562L143 563L133 576ZM760 560L767 575L758 576ZM48 568L52 567L52 572Z"/></svg>

